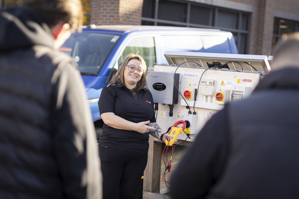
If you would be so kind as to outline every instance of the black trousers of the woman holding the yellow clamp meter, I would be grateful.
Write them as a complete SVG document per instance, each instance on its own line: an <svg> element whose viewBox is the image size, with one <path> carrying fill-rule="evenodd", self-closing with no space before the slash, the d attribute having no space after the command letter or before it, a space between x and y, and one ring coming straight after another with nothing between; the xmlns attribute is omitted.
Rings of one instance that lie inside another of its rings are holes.
<svg viewBox="0 0 299 199"><path fill-rule="evenodd" d="M99 146L103 199L135 198L147 154Z"/></svg>

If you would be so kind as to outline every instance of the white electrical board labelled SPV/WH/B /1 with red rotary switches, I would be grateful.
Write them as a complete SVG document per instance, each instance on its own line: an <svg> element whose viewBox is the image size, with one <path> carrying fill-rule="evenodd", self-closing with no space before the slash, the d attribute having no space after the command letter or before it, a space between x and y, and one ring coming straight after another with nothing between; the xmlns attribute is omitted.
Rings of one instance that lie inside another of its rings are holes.
<svg viewBox="0 0 299 199"><path fill-rule="evenodd" d="M239 55L237 56L239 57ZM210 57L208 59L210 60ZM262 62L260 62L261 65L269 65L267 60L262 60ZM179 120L189 121L190 127L187 127L185 132L191 139L187 139L187 141L193 141L196 133L216 112L224 107L225 103L248 97L259 83L262 75L265 75L264 71L194 67L194 63L192 66L190 65L190 63L182 64L178 67L177 65L161 64L149 68L149 71L155 71L156 76L159 72L161 74L165 72L179 74L179 83L174 85L175 88L178 88L179 94L177 96L178 102L173 104L171 110L173 116L170 116L169 104L160 103L158 104L157 123L164 131L167 131ZM257 65L258 62L256 62L255 67L260 68ZM270 70L270 68L267 69ZM173 82L164 84L173 85ZM154 101L161 100L154 98ZM193 115L193 112L196 115ZM179 136L181 140L186 138L187 135L185 134Z"/></svg>

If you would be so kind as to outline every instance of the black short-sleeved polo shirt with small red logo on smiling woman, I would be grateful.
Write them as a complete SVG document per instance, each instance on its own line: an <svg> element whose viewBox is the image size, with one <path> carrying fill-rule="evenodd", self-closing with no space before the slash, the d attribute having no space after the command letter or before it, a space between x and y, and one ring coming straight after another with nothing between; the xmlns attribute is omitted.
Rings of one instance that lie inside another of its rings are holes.
<svg viewBox="0 0 299 199"><path fill-rule="evenodd" d="M100 114L113 112L115 115L135 123L148 120L156 122L152 94L147 89L139 90L134 97L127 87L108 84L103 87L98 104ZM136 131L115 129L104 124L100 145L147 153L148 140L149 133L142 134Z"/></svg>

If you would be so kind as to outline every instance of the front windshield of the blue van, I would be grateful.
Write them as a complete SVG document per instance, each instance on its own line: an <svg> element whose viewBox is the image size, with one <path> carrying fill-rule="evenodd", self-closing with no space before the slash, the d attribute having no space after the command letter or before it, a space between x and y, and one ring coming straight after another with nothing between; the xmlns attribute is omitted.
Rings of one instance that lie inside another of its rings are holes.
<svg viewBox="0 0 299 199"><path fill-rule="evenodd" d="M73 33L59 50L74 58L82 75L98 75L119 38L105 33Z"/></svg>

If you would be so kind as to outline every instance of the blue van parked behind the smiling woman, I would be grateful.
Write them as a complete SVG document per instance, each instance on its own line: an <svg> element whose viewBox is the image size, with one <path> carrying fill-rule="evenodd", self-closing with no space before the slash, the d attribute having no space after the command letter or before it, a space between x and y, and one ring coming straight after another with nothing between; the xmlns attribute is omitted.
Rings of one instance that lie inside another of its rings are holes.
<svg viewBox="0 0 299 199"><path fill-rule="evenodd" d="M60 48L79 65L97 136L102 133L98 100L103 86L128 53L139 51L148 67L167 63L165 51L232 53L237 46L232 33L190 27L88 25L73 33Z"/></svg>

